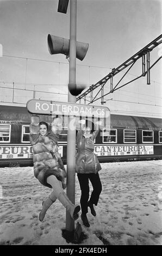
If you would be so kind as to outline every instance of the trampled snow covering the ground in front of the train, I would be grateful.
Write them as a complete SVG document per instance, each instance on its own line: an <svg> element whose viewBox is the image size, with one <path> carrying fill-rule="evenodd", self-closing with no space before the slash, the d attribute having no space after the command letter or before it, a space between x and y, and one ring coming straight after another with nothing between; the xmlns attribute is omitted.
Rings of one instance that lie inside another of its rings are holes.
<svg viewBox="0 0 162 256"><path fill-rule="evenodd" d="M162 160L101 165L97 216L88 213L90 228L80 215L77 220L87 235L82 245L162 245ZM62 237L66 211L59 200L39 221L51 190L35 179L33 167L0 168L0 178L0 245L72 245Z"/></svg>

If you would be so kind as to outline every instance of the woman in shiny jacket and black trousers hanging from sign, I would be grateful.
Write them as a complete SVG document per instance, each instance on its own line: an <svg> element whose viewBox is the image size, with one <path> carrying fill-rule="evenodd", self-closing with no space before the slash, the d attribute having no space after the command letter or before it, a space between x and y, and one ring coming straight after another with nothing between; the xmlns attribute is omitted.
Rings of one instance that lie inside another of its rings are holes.
<svg viewBox="0 0 162 256"><path fill-rule="evenodd" d="M96 124L98 126L98 124ZM82 209L81 218L83 224L86 227L90 227L86 214L88 213L88 206L91 210L91 214L96 216L94 204L97 205L99 195L102 191L102 184L99 178L98 171L101 170L101 165L94 154L94 140L98 134L99 126L97 130L91 133L89 126L82 125L82 130L77 133L77 150L78 155L76 157L76 172L80 184L81 198L80 205ZM89 199L89 180L92 184L93 191Z"/></svg>

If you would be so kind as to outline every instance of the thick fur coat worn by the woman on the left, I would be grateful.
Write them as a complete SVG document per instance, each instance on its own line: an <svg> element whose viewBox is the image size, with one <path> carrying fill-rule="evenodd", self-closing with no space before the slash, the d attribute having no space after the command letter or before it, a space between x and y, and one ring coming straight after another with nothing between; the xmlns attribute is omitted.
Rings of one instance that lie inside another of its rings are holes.
<svg viewBox="0 0 162 256"><path fill-rule="evenodd" d="M38 119L37 119L38 120ZM46 136L39 133L39 122L30 124L30 143L33 145L34 175L44 186L50 187L47 178L55 175L62 181L63 188L66 183L66 171L58 153L59 135L48 131Z"/></svg>

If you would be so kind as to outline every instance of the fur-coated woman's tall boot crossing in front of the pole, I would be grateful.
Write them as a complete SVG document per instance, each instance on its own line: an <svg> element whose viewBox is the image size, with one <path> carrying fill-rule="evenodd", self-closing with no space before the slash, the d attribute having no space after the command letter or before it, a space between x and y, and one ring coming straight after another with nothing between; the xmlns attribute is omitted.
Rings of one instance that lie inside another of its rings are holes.
<svg viewBox="0 0 162 256"><path fill-rule="evenodd" d="M79 217L78 212L80 211L80 206L74 205L64 191L59 194L58 199L61 204L65 206L71 217L74 218L74 220L76 221Z"/></svg>

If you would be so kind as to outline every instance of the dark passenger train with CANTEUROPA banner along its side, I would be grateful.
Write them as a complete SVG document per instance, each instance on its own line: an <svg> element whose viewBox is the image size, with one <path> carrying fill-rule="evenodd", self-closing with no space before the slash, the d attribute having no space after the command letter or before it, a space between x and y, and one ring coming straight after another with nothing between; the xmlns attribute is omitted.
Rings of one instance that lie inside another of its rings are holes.
<svg viewBox="0 0 162 256"><path fill-rule="evenodd" d="M0 106L0 167L33 166L29 142L30 116L26 107ZM40 115L51 123L52 117ZM99 162L162 159L162 119L110 114L110 126L99 130L95 139ZM67 124L59 139L59 153L66 164Z"/></svg>

